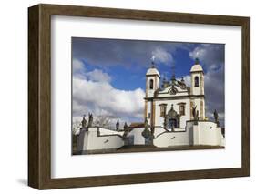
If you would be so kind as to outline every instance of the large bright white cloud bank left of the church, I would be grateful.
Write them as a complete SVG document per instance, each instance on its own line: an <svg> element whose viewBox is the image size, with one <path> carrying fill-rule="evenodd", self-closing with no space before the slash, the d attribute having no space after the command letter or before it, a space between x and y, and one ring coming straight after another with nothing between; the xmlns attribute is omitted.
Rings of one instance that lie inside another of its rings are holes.
<svg viewBox="0 0 256 194"><path fill-rule="evenodd" d="M115 117L141 117L145 93L141 88L119 90L108 82L73 79L73 116L88 112Z"/></svg>

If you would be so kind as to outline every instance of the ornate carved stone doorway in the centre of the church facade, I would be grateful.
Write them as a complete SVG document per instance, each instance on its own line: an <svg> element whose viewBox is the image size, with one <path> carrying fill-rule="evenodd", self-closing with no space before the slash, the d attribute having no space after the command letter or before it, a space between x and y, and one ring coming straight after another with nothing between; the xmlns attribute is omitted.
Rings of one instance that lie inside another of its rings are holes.
<svg viewBox="0 0 256 194"><path fill-rule="evenodd" d="M180 116L179 114L174 110L173 104L171 105L168 114L165 117L165 128L179 128L180 124Z"/></svg>

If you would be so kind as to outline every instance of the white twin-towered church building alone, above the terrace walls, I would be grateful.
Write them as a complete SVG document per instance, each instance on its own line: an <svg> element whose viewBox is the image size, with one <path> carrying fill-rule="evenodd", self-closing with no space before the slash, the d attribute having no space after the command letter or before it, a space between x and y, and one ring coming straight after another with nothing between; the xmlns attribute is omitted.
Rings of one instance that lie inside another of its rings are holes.
<svg viewBox="0 0 256 194"><path fill-rule="evenodd" d="M178 80L174 75L170 81L164 78L160 86L160 74L153 61L146 77L144 117L148 117L150 126L186 128L188 120L206 120L204 74L199 59L190 69L191 87L183 77Z"/></svg>

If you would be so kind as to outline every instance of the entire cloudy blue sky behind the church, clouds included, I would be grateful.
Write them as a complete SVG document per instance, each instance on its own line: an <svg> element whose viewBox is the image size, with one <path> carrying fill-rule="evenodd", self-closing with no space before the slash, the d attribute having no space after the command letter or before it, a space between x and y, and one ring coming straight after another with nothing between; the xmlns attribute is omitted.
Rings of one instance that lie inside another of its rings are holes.
<svg viewBox="0 0 256 194"><path fill-rule="evenodd" d="M161 77L169 79L174 71L176 77L185 77L188 83L189 70L198 57L206 77L208 115L211 117L216 108L220 119L224 120L224 45L84 37L72 38L73 115L93 111L123 119L141 119L145 74L151 66L152 56ZM78 97L85 95L81 90L87 93L84 99ZM90 94L89 91L99 93ZM96 97L99 94L100 97ZM120 105L126 103L137 107Z"/></svg>

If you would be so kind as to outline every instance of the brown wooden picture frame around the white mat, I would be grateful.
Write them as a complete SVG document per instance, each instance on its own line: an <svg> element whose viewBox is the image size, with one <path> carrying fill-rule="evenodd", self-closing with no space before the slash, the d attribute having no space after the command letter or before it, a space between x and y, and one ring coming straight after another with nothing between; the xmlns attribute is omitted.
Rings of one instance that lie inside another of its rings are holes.
<svg viewBox="0 0 256 194"><path fill-rule="evenodd" d="M51 15L241 26L242 135L241 168L200 169L79 178L51 178ZM189 179L243 177L250 174L250 19L73 5L28 8L28 185L60 189Z"/></svg>

